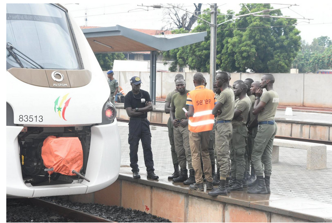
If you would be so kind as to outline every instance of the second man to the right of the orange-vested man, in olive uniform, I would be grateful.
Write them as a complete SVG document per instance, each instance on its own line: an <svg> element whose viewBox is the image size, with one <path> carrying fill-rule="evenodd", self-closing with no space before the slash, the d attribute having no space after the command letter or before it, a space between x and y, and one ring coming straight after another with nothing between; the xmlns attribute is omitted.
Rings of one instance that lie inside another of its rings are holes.
<svg viewBox="0 0 332 223"><path fill-rule="evenodd" d="M232 178L236 178L235 183L230 186L230 191L243 191L242 179L245 172L245 152L246 152L246 137L248 129L246 122L251 107L249 97L246 96L248 86L239 81L234 86L234 95L239 99L235 100L235 111L232 120L233 136L230 140L230 160ZM237 120L242 116L241 121Z"/></svg>

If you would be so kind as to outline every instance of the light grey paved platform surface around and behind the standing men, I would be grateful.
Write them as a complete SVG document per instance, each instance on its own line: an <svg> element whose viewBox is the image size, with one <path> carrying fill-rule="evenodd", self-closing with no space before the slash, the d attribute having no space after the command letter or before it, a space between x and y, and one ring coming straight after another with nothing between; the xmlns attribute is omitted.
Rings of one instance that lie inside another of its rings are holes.
<svg viewBox="0 0 332 223"><path fill-rule="evenodd" d="M118 122L121 135L121 173L130 173L128 123ZM168 133L166 127L151 126L152 152L155 173L169 176L173 173ZM273 164L271 193L289 197L302 197L332 204L332 149L327 151L327 169L307 170L306 150L280 148L279 163ZM141 144L138 165L142 178L146 176Z"/></svg>

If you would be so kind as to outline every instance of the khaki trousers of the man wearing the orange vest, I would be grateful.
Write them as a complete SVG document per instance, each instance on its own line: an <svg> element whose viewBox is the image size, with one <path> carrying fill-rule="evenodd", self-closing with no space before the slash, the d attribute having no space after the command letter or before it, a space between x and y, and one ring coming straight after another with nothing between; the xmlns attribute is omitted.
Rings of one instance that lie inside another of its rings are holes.
<svg viewBox="0 0 332 223"><path fill-rule="evenodd" d="M212 182L212 168L209 155L210 131L193 133L189 131L189 143L191 150L192 165L195 170L196 184L203 183L203 172L200 163L202 156L203 171L208 182Z"/></svg>

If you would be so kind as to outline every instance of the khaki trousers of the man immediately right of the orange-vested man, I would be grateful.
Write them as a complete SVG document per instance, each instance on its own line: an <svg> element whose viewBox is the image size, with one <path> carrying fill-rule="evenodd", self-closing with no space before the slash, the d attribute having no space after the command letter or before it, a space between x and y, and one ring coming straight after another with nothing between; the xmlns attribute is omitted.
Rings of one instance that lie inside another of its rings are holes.
<svg viewBox="0 0 332 223"><path fill-rule="evenodd" d="M215 128L215 150L220 166L220 179L226 179L230 173L229 143L233 134L233 126L230 122L218 123Z"/></svg>

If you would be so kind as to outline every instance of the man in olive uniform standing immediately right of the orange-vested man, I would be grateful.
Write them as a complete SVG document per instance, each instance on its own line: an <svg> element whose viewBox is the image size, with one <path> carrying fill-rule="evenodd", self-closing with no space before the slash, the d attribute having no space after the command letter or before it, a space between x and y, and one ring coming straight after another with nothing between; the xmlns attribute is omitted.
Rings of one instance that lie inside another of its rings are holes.
<svg viewBox="0 0 332 223"><path fill-rule="evenodd" d="M229 180L229 143L232 138L233 127L231 120L234 116L234 92L228 87L229 73L218 72L216 75L217 86L221 89L218 96L217 103L212 109L213 115L217 116L215 127L215 149L217 152L217 159L220 165L220 181L219 187L211 192L209 195L227 195L228 180Z"/></svg>

